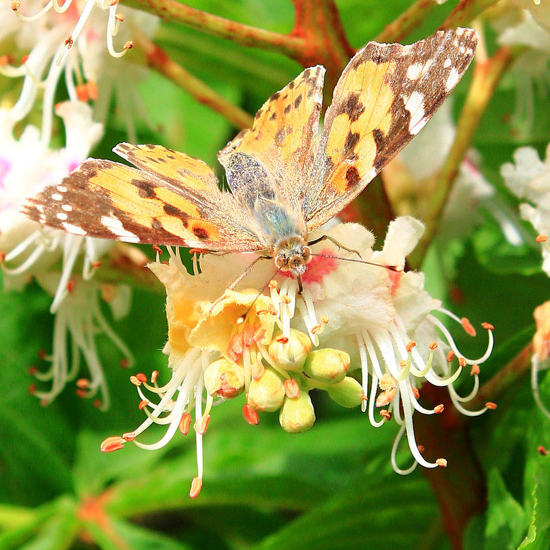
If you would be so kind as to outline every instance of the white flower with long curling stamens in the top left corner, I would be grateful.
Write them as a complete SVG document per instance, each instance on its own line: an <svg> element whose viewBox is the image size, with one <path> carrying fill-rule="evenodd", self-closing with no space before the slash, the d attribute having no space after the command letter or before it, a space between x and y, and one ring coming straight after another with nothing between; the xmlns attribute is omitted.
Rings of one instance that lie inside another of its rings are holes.
<svg viewBox="0 0 550 550"><path fill-rule="evenodd" d="M19 66L8 63L6 56L0 62L0 74L24 77L19 100L10 111L12 120L22 120L28 115L43 88L41 136L48 144L56 88L63 73L69 98L72 101L97 100L96 118L101 122L106 120L113 91L118 96L122 94L123 106L133 103L133 83L139 70L134 68L133 72L122 76L120 67L112 65L110 60L132 47L131 25L140 32L152 34L158 21L155 16L125 7L120 13L117 1L107 0L67 0L63 5L57 0L45 4L36 0L14 0L11 9L10 0L2 0L0 5L0 28L3 28L0 41L11 40L18 52L28 54ZM12 10L22 21L17 21ZM19 24L14 25L14 21ZM114 36L122 47L120 51L115 50Z"/></svg>

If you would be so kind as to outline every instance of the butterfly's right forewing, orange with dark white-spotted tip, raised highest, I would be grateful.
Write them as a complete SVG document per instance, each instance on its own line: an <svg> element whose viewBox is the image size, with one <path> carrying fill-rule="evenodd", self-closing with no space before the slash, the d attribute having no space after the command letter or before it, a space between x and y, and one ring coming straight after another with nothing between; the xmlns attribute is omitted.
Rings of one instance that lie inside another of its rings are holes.
<svg viewBox="0 0 550 550"><path fill-rule="evenodd" d="M369 42L344 69L311 173L307 230L331 219L430 120L465 73L478 36L438 31L402 46Z"/></svg>

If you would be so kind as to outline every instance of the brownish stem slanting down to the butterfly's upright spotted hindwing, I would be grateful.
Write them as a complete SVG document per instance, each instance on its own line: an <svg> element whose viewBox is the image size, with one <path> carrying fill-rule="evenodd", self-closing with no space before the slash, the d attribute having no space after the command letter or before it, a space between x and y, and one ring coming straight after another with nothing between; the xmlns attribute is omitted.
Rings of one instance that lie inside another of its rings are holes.
<svg viewBox="0 0 550 550"><path fill-rule="evenodd" d="M152 67L160 74L164 74L166 78L169 78L173 83L188 92L199 103L220 113L237 128L252 127L254 119L251 115L217 94L216 91L203 83L202 80L187 72L181 65L175 63L148 36L135 30L134 37L134 43L144 52L149 67Z"/></svg>

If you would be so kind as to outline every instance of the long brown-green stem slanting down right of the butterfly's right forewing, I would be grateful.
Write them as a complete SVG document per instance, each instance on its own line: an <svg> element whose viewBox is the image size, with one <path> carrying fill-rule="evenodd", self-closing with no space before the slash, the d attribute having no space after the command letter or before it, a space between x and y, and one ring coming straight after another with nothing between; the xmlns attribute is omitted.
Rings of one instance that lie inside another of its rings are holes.
<svg viewBox="0 0 550 550"><path fill-rule="evenodd" d="M447 159L445 159L445 164L443 164L437 176L437 186L432 192L430 205L424 217L426 233L415 251L410 255L409 265L414 268L421 265L430 242L437 234L441 213L452 189L454 179L459 172L464 155L470 147L481 116L485 112L496 85L511 61L516 58L517 53L512 52L509 47L503 46L497 50L492 58L481 61L474 67L472 84L459 116L459 122L456 125L456 137Z"/></svg>

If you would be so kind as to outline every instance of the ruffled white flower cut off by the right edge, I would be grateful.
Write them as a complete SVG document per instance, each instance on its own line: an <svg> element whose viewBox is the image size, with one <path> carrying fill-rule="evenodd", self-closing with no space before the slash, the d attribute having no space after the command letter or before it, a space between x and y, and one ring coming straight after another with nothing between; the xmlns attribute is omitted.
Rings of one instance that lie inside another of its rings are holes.
<svg viewBox="0 0 550 550"><path fill-rule="evenodd" d="M520 216L533 225L542 243L542 269L550 275L550 145L546 159L540 159L532 147L520 147L514 152L514 163L507 162L500 168L505 184L511 192L528 202L520 204Z"/></svg>

